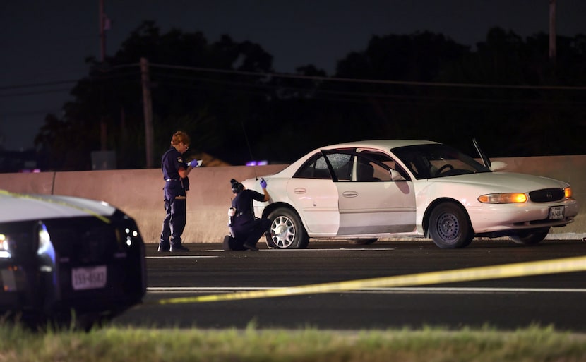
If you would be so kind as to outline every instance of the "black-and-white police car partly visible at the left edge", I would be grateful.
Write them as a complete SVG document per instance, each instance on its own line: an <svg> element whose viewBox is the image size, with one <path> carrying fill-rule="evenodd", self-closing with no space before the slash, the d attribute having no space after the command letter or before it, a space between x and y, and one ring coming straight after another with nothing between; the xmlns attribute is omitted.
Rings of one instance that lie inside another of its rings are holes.
<svg viewBox="0 0 586 362"><path fill-rule="evenodd" d="M107 203L0 190L0 315L91 327L142 301L145 246Z"/></svg>

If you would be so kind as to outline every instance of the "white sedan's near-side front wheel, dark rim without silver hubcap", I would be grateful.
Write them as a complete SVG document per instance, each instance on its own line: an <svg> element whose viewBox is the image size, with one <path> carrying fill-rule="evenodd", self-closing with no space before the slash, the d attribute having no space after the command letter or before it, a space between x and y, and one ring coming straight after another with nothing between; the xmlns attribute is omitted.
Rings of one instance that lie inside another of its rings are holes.
<svg viewBox="0 0 586 362"><path fill-rule="evenodd" d="M465 248L474 238L466 212L455 203L441 203L431 211L429 234L443 249Z"/></svg>

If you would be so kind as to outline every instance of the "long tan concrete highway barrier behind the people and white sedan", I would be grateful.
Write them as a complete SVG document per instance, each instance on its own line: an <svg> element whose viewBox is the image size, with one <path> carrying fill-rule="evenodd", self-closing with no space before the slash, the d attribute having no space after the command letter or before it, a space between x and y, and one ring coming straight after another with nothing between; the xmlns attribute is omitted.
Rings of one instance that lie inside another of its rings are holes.
<svg viewBox="0 0 586 362"><path fill-rule="evenodd" d="M567 181L580 203L580 215L567 227L551 234L586 236L586 155L510 157L495 159L508 164L506 171L547 176ZM232 200L229 180L239 181L274 174L287 165L257 167L201 167L191 171L187 196L186 243L221 241L227 234L227 208ZM0 174L0 188L17 193L72 195L104 200L136 219L147 243L157 243L163 208L160 169L42 172ZM269 185L270 188L270 185Z"/></svg>

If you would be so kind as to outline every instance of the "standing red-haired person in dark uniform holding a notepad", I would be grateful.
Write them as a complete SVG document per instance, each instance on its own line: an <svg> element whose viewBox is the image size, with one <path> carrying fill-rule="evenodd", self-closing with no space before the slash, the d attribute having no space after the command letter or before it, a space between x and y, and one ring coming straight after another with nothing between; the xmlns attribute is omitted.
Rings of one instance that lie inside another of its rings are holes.
<svg viewBox="0 0 586 362"><path fill-rule="evenodd" d="M165 211L159 251L189 251L181 245L181 234L186 223L186 190L189 189L187 175L198 166L194 159L184 163L183 154L189 150L189 135L177 131L171 138L171 148L161 158L161 169L165 180Z"/></svg>

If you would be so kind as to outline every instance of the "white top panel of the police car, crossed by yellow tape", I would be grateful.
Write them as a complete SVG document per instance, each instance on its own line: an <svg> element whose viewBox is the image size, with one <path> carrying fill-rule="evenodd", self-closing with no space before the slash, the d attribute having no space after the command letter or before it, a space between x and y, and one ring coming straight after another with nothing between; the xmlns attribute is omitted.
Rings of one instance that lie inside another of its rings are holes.
<svg viewBox="0 0 586 362"><path fill-rule="evenodd" d="M0 222L114 215L116 207L103 201L57 195L30 195L0 190Z"/></svg>

